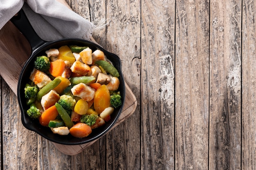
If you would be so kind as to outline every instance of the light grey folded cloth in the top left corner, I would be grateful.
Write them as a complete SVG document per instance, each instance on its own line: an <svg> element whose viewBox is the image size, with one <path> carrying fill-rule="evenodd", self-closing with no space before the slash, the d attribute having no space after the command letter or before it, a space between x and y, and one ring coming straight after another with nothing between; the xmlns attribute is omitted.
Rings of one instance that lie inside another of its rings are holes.
<svg viewBox="0 0 256 170"><path fill-rule="evenodd" d="M0 29L20 9L40 38L53 41L60 38L90 40L94 24L56 0L2 0L0 5Z"/></svg>

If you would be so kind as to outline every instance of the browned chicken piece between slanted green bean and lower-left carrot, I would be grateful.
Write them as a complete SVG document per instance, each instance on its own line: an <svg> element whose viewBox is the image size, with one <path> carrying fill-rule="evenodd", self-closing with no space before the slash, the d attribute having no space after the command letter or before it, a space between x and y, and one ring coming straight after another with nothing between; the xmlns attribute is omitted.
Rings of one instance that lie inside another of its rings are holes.
<svg viewBox="0 0 256 170"><path fill-rule="evenodd" d="M47 108L53 106L56 102L58 102L59 99L60 95L56 91L51 90L49 91L49 93L42 97L41 105L43 109L46 110Z"/></svg>

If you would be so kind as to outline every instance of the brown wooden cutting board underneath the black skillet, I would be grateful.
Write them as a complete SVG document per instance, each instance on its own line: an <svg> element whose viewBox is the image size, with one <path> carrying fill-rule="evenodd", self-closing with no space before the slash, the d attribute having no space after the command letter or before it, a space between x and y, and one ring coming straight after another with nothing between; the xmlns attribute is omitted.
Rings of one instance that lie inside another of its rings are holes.
<svg viewBox="0 0 256 170"><path fill-rule="evenodd" d="M22 66L30 56L30 53L31 48L27 40L11 22L7 22L7 24L0 30L0 74L16 95L18 77ZM134 113L136 106L137 100L135 95L126 84L124 108L117 123L112 129L121 124L126 118L130 117L130 115ZM58 150L66 155L76 155L82 152L86 147L92 145L95 141L74 146L53 144Z"/></svg>

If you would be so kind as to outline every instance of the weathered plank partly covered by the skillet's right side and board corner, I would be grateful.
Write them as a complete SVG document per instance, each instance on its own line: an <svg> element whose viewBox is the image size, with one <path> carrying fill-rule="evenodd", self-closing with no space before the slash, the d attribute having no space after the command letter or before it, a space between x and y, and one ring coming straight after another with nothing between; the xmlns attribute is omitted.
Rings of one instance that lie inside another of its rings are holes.
<svg viewBox="0 0 256 170"><path fill-rule="evenodd" d="M140 94L140 1L106 1L106 49L121 58L124 78ZM140 101L138 101L138 104ZM106 135L106 169L139 169L140 112Z"/></svg>

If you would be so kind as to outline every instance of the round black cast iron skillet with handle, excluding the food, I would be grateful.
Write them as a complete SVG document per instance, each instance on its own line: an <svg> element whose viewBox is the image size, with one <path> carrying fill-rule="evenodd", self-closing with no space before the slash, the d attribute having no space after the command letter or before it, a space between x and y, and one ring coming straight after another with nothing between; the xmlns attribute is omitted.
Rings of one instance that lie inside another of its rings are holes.
<svg viewBox="0 0 256 170"><path fill-rule="evenodd" d="M39 36L36 34L33 27L31 26L29 20L27 19L24 11L22 10L19 11L19 13L11 19L11 22L27 38L27 40L29 41L29 44L31 45L31 56L23 66L22 71L20 73L19 80L18 80L17 95L18 95L18 102L21 110L21 121L23 126L25 126L25 128L29 130L32 130L38 133L39 135L41 135L45 139L48 139L49 141L53 141L55 143L64 144L64 145L85 144L85 143L94 141L95 139L98 139L99 137L105 135L118 120L119 115L121 114L122 108L124 106L125 83L124 83L124 77L121 72L121 60L119 59L119 57L113 53L106 51L105 49L103 49L101 46L97 44L94 44L90 41L86 41L82 39L64 38L64 39L55 40L52 42L46 42L41 38L39 38ZM29 107L25 103L26 99L24 96L24 87L25 87L25 84L29 82L29 75L34 68L35 58L40 55L45 55L45 51L47 51L48 49L59 48L63 45L88 46L90 47L90 49L92 49L92 51L95 51L96 49L100 49L101 51L104 52L104 54L112 62L112 64L117 68L120 75L119 91L121 93L123 105L115 109L114 113L112 113L111 115L110 121L106 122L106 124L100 128L93 129L92 133L88 137L84 137L84 138L72 137L70 134L65 136L53 134L48 127L41 126L37 119L29 118L26 113Z"/></svg>

